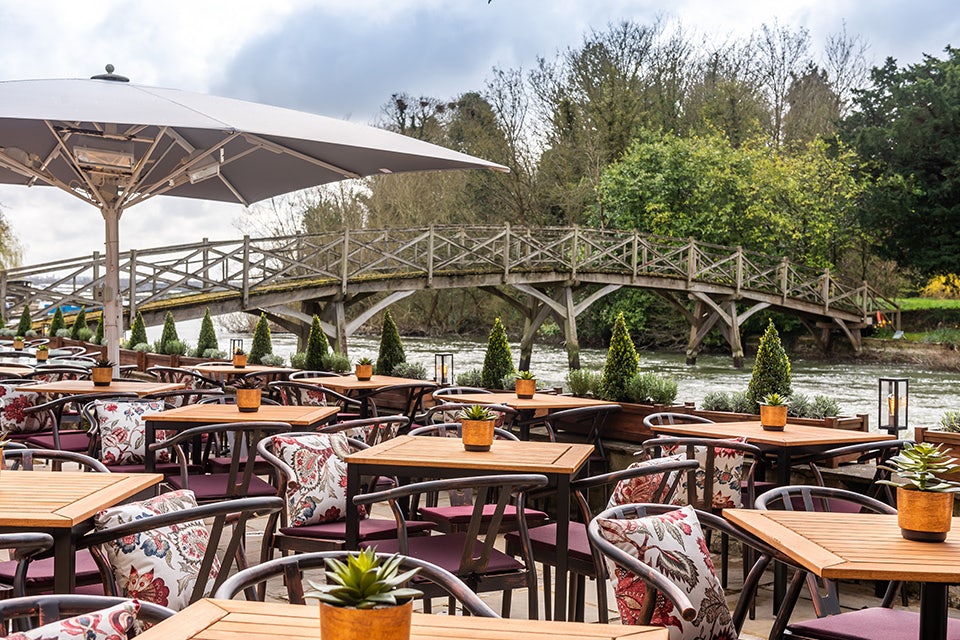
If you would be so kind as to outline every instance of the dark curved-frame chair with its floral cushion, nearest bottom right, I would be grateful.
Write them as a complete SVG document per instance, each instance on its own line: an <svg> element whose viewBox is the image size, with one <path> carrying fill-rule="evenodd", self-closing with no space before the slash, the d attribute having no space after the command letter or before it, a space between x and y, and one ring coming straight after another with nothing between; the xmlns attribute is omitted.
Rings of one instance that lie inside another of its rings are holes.
<svg viewBox="0 0 960 640"><path fill-rule="evenodd" d="M713 570L704 529L739 540L759 554L734 610ZM620 622L679 627L676 637L738 638L760 577L777 552L723 518L692 506L627 504L605 509L587 525L604 563Z"/></svg>

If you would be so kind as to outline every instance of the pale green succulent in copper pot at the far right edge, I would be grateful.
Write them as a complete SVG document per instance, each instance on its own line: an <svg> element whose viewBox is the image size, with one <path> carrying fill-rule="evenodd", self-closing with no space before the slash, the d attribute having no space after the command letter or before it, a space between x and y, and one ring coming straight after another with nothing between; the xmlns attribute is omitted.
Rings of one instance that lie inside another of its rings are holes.
<svg viewBox="0 0 960 640"><path fill-rule="evenodd" d="M929 442L907 444L881 468L902 481L879 480L897 488L897 523L907 540L943 542L953 520L953 494L960 482L945 479L958 468L956 458Z"/></svg>

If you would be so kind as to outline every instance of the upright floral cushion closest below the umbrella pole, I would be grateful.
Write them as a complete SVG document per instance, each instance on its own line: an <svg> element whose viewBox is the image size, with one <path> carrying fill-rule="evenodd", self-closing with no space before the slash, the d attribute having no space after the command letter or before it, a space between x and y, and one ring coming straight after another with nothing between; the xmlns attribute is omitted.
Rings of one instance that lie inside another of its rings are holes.
<svg viewBox="0 0 960 640"><path fill-rule="evenodd" d="M162 400L110 402L95 400L97 428L100 430L100 459L103 464L139 464L147 452L146 427L143 416L163 411ZM164 432L157 433L157 440ZM170 462L170 452L160 449L157 462Z"/></svg>

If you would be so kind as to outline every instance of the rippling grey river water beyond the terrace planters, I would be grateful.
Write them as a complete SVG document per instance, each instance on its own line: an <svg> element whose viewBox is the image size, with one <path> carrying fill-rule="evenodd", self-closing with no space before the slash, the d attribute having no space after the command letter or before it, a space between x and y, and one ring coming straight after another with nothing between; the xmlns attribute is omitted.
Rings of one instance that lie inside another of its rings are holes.
<svg viewBox="0 0 960 640"><path fill-rule="evenodd" d="M177 323L180 335L188 342L196 341L199 321ZM148 328L151 340L160 337L160 327ZM155 335L154 335L155 334ZM217 337L225 349L230 338L242 338L249 349L252 336L230 334L218 329ZM379 336L354 336L350 338L350 358L376 359L379 351ZM407 361L423 364L428 376L433 376L434 354L454 354L454 375L479 369L483 366L486 341L458 338L403 338ZM511 344L514 363L520 356L518 344ZM296 351L296 338L292 334L274 333L273 351L289 357ZM605 349L582 349L580 363L586 369L600 370L606 359ZM642 351L640 368L667 375L676 380L677 402L695 402L700 406L704 395L711 391L743 391L750 382L752 362L748 359L743 369L734 369L729 356L701 355L697 364L688 366L683 354ZM541 387L565 386L567 354L562 346L534 345L530 366ZM867 414L872 430L878 423L878 379L907 378L909 381L908 426L933 426L947 410L960 410L956 373L933 371L909 364L834 363L791 358L793 390L813 397L826 395L840 403L843 415ZM886 394L884 393L884 396ZM912 434L912 429L909 432Z"/></svg>

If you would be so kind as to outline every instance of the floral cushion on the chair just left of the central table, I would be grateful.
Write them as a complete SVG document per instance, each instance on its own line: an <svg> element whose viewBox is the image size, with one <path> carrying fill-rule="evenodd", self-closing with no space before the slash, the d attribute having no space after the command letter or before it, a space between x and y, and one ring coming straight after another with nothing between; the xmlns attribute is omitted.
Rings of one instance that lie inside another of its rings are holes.
<svg viewBox="0 0 960 640"><path fill-rule="evenodd" d="M287 487L287 523L304 527L346 517L347 463L350 444L344 433L273 436L274 454L297 476ZM366 511L360 507L360 517Z"/></svg>

